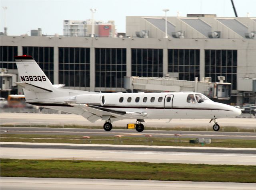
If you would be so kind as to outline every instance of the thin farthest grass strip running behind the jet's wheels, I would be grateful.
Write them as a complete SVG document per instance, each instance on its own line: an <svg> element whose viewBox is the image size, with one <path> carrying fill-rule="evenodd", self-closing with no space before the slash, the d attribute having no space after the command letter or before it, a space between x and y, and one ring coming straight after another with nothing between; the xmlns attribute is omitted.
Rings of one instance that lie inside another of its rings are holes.
<svg viewBox="0 0 256 190"><path fill-rule="evenodd" d="M78 128L78 129L102 129L100 126L85 125L1 125L2 127L49 127L49 128ZM126 129L126 127L115 126L114 129ZM146 130L156 131L213 131L212 127L145 127ZM221 127L225 132L256 132L256 128Z"/></svg>

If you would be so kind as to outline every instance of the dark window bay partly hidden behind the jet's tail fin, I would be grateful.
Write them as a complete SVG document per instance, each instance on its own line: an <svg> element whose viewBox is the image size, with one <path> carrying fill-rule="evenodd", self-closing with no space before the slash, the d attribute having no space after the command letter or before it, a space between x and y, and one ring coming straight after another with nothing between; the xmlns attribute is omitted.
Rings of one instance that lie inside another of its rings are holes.
<svg viewBox="0 0 256 190"><path fill-rule="evenodd" d="M53 47L32 47L24 46L22 47L23 55L31 55L39 67L44 71L44 74L49 78L49 80L54 82L54 50Z"/></svg>

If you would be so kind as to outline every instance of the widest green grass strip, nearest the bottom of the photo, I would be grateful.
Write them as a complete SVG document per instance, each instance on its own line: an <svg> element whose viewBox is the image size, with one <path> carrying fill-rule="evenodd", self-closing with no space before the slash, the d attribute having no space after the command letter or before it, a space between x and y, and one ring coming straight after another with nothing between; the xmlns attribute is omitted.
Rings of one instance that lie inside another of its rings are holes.
<svg viewBox="0 0 256 190"><path fill-rule="evenodd" d="M255 183L256 166L1 159L1 176Z"/></svg>

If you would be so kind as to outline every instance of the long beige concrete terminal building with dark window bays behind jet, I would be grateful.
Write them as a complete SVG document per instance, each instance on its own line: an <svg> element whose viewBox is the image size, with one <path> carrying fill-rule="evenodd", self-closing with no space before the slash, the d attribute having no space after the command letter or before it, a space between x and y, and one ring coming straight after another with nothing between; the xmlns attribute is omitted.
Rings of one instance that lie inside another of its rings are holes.
<svg viewBox="0 0 256 190"><path fill-rule="evenodd" d="M164 77L177 86L220 82L222 76L230 88L227 103L255 103L256 18L188 15L167 21L168 38L164 18L141 16L127 16L126 36L120 37L2 35L1 68L17 74L14 55L32 55L53 84L101 92L158 91L125 85L134 77Z"/></svg>

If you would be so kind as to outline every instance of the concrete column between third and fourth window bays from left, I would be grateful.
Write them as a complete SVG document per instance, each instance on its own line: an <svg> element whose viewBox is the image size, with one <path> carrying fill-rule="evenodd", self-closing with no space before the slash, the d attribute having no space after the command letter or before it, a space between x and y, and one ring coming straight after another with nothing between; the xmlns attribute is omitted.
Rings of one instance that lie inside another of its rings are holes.
<svg viewBox="0 0 256 190"><path fill-rule="evenodd" d="M95 91L95 48L93 45L90 47L90 91Z"/></svg>

